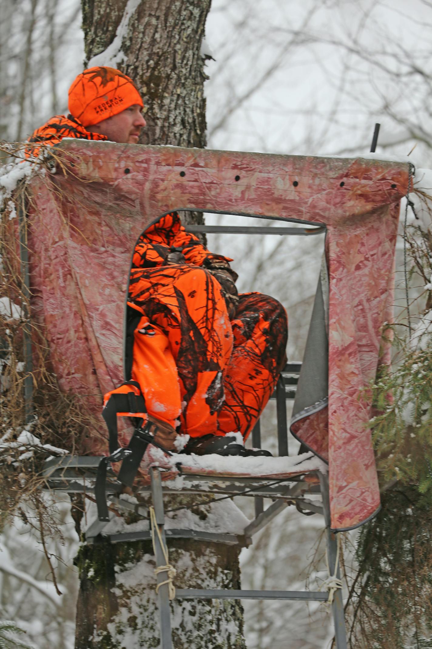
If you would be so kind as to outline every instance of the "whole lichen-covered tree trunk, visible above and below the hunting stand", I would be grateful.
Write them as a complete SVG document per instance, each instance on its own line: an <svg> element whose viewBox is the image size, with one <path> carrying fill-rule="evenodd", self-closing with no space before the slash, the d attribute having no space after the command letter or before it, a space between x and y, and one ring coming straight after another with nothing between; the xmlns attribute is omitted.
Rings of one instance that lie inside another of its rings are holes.
<svg viewBox="0 0 432 649"><path fill-rule="evenodd" d="M82 0L86 67L117 67L136 82L147 121L143 144L206 145L206 75L200 49L210 3ZM199 219L189 214L184 220ZM169 555L177 587L239 588L236 546L169 539ZM75 649L160 646L148 541L84 545L77 564L81 582ZM174 600L171 611L176 649L245 649L240 602Z"/></svg>

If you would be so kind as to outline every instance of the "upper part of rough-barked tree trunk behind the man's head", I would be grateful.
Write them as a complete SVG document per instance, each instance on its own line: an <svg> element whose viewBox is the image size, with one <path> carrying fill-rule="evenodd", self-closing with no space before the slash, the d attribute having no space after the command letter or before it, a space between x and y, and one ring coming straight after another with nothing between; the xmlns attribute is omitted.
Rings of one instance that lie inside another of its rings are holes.
<svg viewBox="0 0 432 649"><path fill-rule="evenodd" d="M81 0L86 67L112 66L134 80L147 126L141 144L206 146L201 43L211 0ZM204 223L185 212L183 223ZM206 236L201 236L206 243Z"/></svg>

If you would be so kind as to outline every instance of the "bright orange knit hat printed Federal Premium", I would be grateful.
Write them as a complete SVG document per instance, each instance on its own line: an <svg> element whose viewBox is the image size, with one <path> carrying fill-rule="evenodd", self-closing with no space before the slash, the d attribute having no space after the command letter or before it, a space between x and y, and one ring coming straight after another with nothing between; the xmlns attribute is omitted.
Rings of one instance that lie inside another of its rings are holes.
<svg viewBox="0 0 432 649"><path fill-rule="evenodd" d="M69 112L84 127L99 124L133 104L144 105L138 88L114 67L90 67L69 88Z"/></svg>

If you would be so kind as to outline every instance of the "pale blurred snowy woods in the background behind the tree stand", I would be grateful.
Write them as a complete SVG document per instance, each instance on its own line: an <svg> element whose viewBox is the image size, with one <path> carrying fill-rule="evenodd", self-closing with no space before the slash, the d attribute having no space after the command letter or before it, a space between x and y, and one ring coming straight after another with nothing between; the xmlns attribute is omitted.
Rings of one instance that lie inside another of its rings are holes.
<svg viewBox="0 0 432 649"><path fill-rule="evenodd" d="M206 68L208 147L355 156L369 151L379 122L378 153L405 158L415 145L409 159L431 167L431 3L212 5L204 45L215 59ZM67 89L84 59L80 3L0 0L0 8L0 139L23 140L51 115L67 112ZM207 221L226 219L209 215ZM287 308L289 360L302 358L323 244L322 236L208 236L210 249L235 259L241 291L271 293ZM263 424L269 450L276 450L274 418L270 404ZM290 444L296 453L295 441ZM252 517L252 500L237 504ZM64 539L52 541L49 552L61 597L32 531L32 512L23 511L0 535L0 620L14 620L38 649L74 644L78 539L67 502L56 511ZM243 587L303 588L320 556L321 532L320 517L287 508L243 551ZM318 604L244 604L249 649L283 649L287 637L290 649L329 646L328 615Z"/></svg>

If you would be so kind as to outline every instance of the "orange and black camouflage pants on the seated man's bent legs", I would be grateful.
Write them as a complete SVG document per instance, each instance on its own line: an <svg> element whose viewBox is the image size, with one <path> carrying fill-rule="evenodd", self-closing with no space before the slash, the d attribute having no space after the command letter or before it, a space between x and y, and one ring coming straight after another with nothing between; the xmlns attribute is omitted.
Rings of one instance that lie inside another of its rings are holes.
<svg viewBox="0 0 432 649"><path fill-rule="evenodd" d="M193 265L132 269L132 380L150 416L191 437L248 436L286 361L287 314L268 295L239 296L230 321L219 282Z"/></svg>

